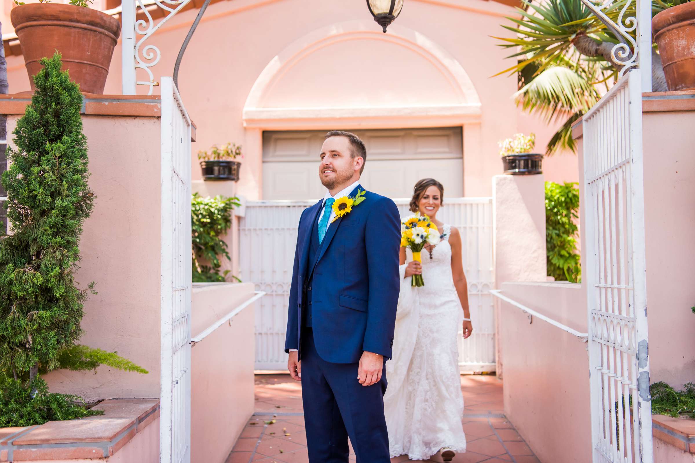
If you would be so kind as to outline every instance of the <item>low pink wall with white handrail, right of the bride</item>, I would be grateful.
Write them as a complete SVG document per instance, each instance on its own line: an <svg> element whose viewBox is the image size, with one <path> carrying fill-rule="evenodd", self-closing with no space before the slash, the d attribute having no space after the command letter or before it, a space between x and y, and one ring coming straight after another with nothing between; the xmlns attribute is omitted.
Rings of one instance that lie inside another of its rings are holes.
<svg viewBox="0 0 695 463"><path fill-rule="evenodd" d="M580 333L586 292L575 283L502 283L505 296ZM505 415L543 463L591 461L589 357L575 336L500 301Z"/></svg>

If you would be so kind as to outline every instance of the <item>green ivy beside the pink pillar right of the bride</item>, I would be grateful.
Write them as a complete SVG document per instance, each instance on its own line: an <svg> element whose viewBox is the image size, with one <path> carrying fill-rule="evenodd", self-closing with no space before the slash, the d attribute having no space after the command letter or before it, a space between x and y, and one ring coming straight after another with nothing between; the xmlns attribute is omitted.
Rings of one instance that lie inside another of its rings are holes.
<svg viewBox="0 0 695 463"><path fill-rule="evenodd" d="M575 185L546 182L546 263L549 277L579 283L582 268L575 239L579 190Z"/></svg>

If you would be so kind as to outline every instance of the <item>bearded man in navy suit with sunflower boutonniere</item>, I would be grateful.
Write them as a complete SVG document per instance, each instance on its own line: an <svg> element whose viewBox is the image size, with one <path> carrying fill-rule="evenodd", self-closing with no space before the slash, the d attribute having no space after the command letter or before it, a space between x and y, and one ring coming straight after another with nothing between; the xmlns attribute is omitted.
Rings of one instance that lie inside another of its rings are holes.
<svg viewBox="0 0 695 463"><path fill-rule="evenodd" d="M310 463L389 463L386 360L398 303L400 217L359 177L364 143L326 134L318 175L325 198L302 212L285 351L302 381ZM363 198L363 199L361 199Z"/></svg>

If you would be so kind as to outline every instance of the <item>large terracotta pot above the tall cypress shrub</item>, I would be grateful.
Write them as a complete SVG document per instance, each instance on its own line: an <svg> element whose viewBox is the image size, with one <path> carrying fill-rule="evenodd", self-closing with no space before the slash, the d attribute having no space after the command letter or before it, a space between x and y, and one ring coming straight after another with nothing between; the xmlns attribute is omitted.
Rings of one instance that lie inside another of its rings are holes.
<svg viewBox="0 0 695 463"><path fill-rule="evenodd" d="M91 8L59 3L20 5L13 8L10 19L22 46L32 90L32 77L41 70L39 60L58 50L63 55L63 69L70 71L81 91L104 93L113 48L121 33L117 19Z"/></svg>

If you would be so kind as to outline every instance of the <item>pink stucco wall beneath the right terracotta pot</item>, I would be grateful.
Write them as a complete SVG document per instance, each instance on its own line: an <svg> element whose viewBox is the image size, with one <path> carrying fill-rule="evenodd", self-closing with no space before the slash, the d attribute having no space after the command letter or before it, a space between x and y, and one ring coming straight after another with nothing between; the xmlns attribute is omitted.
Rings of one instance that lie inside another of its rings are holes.
<svg viewBox="0 0 695 463"><path fill-rule="evenodd" d="M643 126L651 381L680 388L695 381L695 112L645 113Z"/></svg>

